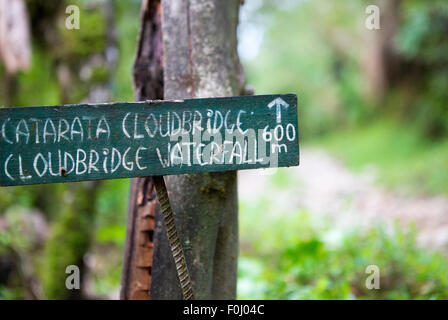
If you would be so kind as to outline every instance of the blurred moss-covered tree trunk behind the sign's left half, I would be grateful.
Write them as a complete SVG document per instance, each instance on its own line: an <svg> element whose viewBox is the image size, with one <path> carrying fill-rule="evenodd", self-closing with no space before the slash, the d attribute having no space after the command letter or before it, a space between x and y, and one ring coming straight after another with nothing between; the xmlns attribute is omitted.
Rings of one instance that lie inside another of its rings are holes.
<svg viewBox="0 0 448 320"><path fill-rule="evenodd" d="M81 8L84 10L85 7ZM64 51L64 48L70 47L67 45L62 49L53 47L63 103L101 103L110 99L116 58L107 59L106 50L116 46L113 9L112 0L108 0L97 4L92 12L83 12L85 25L81 33L59 30L59 41L70 42L74 46L73 50L68 51ZM90 26L96 26L96 31L92 32ZM80 78L82 68L91 70L88 79ZM103 76L95 76L98 70L104 71L101 72ZM55 207L59 209L52 223L42 267L42 287L48 299L85 298L85 286L81 285L80 290L66 288L65 280L69 275L65 272L69 265L78 266L81 281L87 272L84 258L95 230L96 196L100 185L101 181L68 183L65 184L63 199L55 199L51 193L44 196L44 203L56 203Z"/></svg>

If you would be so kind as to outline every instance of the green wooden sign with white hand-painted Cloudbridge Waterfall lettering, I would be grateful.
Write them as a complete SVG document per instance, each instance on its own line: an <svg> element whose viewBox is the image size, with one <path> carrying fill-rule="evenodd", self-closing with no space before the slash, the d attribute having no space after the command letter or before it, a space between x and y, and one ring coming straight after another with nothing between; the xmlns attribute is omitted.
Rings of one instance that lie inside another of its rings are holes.
<svg viewBox="0 0 448 320"><path fill-rule="evenodd" d="M295 166L287 95L0 109L0 185Z"/></svg>

